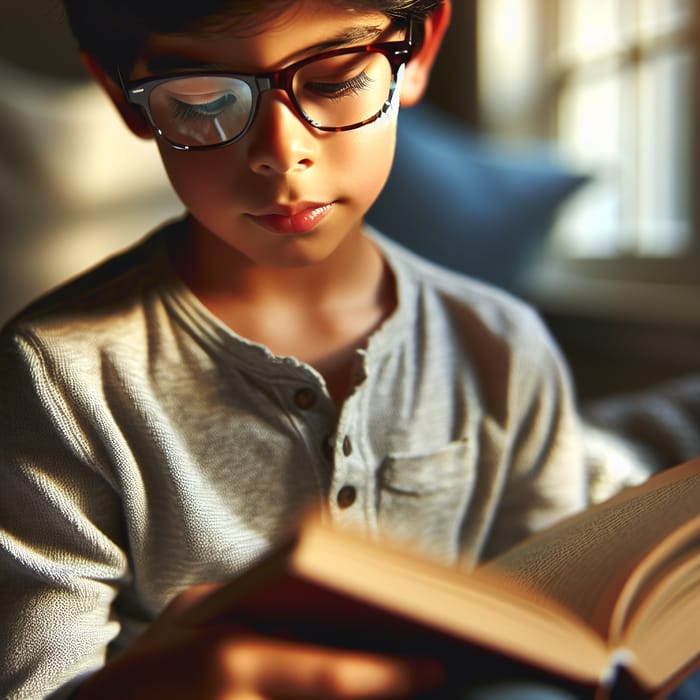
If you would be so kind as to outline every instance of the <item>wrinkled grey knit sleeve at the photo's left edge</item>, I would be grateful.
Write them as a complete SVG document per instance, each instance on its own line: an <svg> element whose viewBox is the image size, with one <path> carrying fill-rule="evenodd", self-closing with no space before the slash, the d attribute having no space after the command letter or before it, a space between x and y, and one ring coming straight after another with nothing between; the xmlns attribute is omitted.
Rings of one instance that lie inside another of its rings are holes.
<svg viewBox="0 0 700 700"><path fill-rule="evenodd" d="M102 664L128 563L118 498L72 427L55 383L61 368L26 339L8 345L0 351L0 696L37 698Z"/></svg>

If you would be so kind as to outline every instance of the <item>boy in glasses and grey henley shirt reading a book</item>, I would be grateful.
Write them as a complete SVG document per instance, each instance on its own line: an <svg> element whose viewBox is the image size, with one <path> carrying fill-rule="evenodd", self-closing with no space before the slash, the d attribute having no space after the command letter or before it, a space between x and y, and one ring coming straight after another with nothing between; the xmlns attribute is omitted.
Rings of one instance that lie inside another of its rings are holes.
<svg viewBox="0 0 700 700"><path fill-rule="evenodd" d="M188 215L2 335L2 696L417 692L429 669L180 620L310 506L469 567L584 505L535 315L363 226L449 0L66 7Z"/></svg>

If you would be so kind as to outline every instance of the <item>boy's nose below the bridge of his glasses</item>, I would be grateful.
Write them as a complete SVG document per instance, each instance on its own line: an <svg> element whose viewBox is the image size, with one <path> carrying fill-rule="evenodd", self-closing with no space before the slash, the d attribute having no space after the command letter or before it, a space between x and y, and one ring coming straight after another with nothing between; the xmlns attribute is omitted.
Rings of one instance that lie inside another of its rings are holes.
<svg viewBox="0 0 700 700"><path fill-rule="evenodd" d="M259 175L285 175L310 168L318 147L312 130L284 91L266 90L248 133L251 170Z"/></svg>

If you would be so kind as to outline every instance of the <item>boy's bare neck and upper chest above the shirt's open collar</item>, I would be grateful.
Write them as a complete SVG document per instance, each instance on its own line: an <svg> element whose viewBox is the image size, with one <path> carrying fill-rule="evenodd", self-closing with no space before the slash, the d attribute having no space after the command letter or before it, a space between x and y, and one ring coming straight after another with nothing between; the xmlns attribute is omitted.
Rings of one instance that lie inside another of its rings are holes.
<svg viewBox="0 0 700 700"><path fill-rule="evenodd" d="M391 314L393 275L358 228L326 258L300 267L256 265L204 231L191 231L175 264L215 315L273 353L314 366L340 404L355 352Z"/></svg>

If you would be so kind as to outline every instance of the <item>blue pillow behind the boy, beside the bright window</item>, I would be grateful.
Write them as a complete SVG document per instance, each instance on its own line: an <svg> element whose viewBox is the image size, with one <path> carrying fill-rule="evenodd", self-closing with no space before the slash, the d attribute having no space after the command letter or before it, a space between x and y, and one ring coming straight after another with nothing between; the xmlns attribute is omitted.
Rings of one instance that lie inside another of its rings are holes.
<svg viewBox="0 0 700 700"><path fill-rule="evenodd" d="M506 153L421 105L401 112L394 166L367 220L426 258L512 289L587 179L544 148Z"/></svg>

